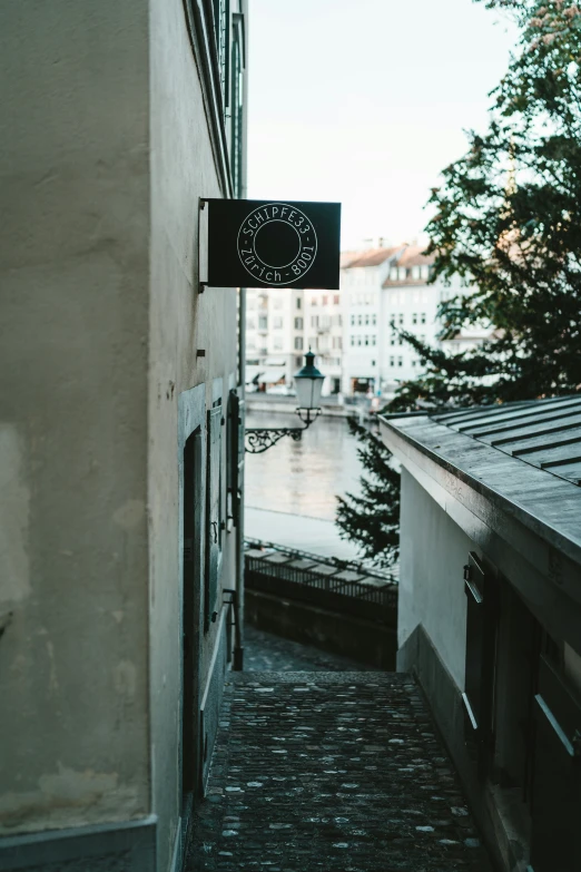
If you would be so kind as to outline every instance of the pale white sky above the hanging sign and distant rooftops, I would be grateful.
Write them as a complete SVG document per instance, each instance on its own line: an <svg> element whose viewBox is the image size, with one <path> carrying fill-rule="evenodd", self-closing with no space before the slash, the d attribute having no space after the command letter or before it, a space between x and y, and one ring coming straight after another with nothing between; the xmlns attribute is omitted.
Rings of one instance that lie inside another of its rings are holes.
<svg viewBox="0 0 581 872"><path fill-rule="evenodd" d="M516 33L472 0L249 0L248 196L343 204L342 247L425 239Z"/></svg>

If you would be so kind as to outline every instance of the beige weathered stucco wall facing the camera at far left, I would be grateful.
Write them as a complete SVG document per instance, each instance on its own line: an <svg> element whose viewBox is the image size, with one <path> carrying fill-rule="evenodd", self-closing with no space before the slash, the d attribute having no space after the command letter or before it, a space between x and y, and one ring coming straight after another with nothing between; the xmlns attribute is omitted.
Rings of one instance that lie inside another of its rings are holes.
<svg viewBox="0 0 581 872"><path fill-rule="evenodd" d="M149 809L147 3L0 7L0 832Z"/></svg>

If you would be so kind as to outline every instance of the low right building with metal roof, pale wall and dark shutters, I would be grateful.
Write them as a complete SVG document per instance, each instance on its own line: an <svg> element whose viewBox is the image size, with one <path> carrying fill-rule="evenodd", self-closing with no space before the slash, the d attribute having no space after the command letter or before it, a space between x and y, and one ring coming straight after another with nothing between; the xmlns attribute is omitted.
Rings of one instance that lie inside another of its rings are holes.
<svg viewBox="0 0 581 872"><path fill-rule="evenodd" d="M581 400L381 419L402 464L398 658L499 869L581 864Z"/></svg>

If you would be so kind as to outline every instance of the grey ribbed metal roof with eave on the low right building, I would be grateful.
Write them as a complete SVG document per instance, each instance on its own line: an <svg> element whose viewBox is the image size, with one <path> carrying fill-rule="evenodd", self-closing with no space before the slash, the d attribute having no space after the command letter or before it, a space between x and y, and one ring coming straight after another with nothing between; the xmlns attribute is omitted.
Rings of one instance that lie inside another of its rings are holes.
<svg viewBox="0 0 581 872"><path fill-rule="evenodd" d="M445 511L463 507L471 538L516 543L581 602L581 395L378 421L384 444ZM557 552L565 568L555 576Z"/></svg>

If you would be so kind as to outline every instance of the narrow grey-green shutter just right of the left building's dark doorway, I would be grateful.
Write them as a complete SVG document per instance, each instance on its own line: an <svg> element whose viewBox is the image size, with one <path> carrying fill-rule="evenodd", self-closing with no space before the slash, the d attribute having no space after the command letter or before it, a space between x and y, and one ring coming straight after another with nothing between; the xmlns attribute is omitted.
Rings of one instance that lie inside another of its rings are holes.
<svg viewBox="0 0 581 872"><path fill-rule="evenodd" d="M208 476L207 476L207 528L206 528L206 628L216 610L218 577L221 562L220 518L220 469L221 469L221 405L208 411Z"/></svg>

